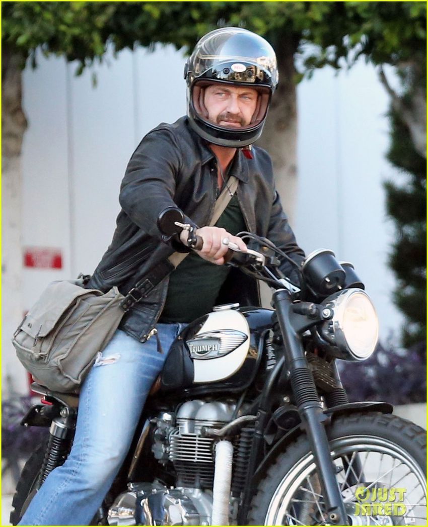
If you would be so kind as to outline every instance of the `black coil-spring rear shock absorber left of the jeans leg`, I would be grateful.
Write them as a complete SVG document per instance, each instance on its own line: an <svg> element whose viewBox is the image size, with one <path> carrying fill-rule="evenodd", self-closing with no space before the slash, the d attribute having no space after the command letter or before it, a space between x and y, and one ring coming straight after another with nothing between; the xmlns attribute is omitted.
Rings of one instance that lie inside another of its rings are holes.
<svg viewBox="0 0 428 527"><path fill-rule="evenodd" d="M66 460L71 444L72 432L75 427L74 415L70 415L69 408L61 408L59 417L53 419L49 430L49 442L47 443L42 468L40 470L37 487L44 483L46 477Z"/></svg>

